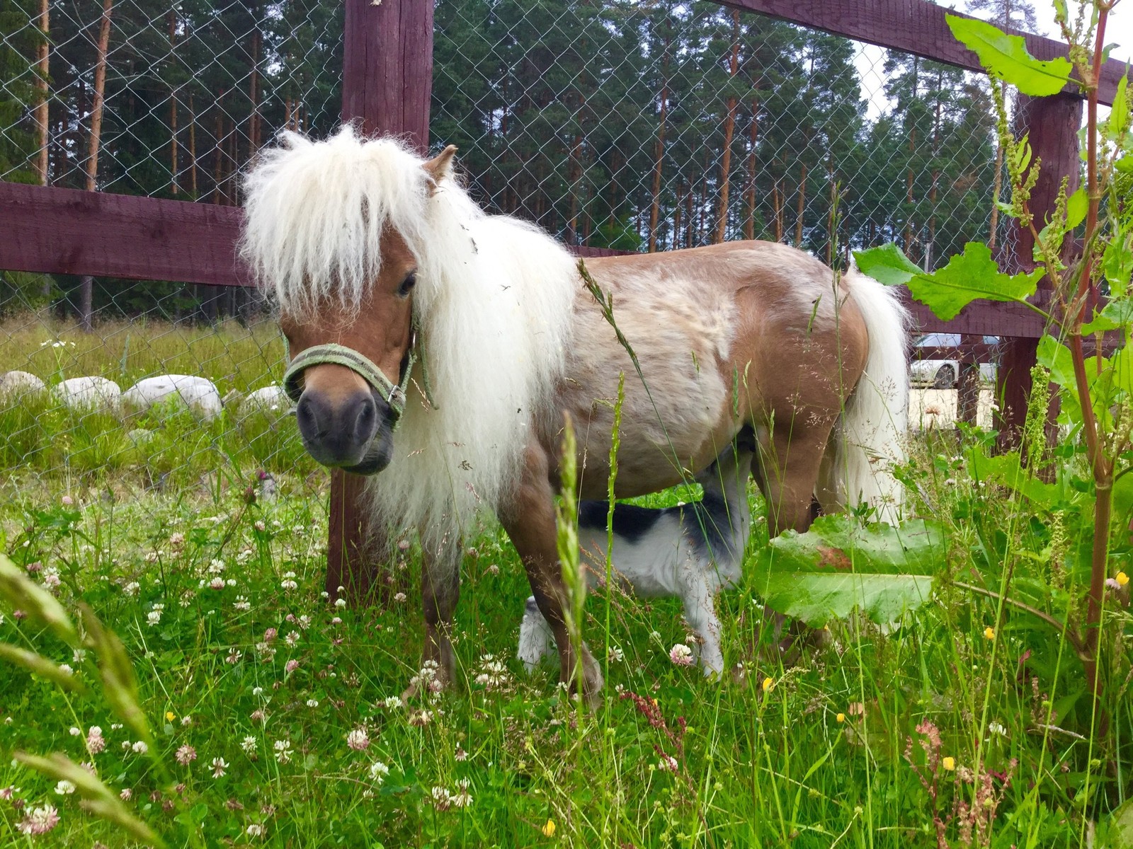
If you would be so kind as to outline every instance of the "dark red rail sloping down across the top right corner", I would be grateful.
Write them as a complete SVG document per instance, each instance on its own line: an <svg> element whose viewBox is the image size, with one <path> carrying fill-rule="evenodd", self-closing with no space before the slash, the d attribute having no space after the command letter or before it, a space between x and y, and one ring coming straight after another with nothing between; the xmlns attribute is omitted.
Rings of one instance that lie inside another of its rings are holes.
<svg viewBox="0 0 1133 849"><path fill-rule="evenodd" d="M902 50L925 59L982 71L976 54L957 42L945 15L971 17L937 6L929 0L721 0L741 11L756 11L799 26L823 29L847 38L891 50ZM1066 45L1054 38L1008 29L1026 40L1026 48L1038 59L1067 55ZM1125 74L1125 62L1110 59L1101 71L1098 97L1113 103L1117 83ZM1066 91L1077 94L1076 86Z"/></svg>

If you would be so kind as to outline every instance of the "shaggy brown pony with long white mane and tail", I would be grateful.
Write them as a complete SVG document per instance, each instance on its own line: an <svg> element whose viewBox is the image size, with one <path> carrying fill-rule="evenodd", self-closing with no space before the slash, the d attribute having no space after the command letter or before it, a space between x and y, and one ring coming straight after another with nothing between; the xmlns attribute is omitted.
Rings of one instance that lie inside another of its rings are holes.
<svg viewBox="0 0 1133 849"><path fill-rule="evenodd" d="M904 312L875 281L768 242L589 259L639 376L562 247L485 216L452 185L454 148L421 162L349 129L289 140L249 177L245 256L275 289L293 354L347 348L384 376L305 365L297 421L320 462L376 475L377 522L419 531L437 680L454 675L460 535L488 507L523 561L563 679L580 662L582 689L600 688L589 651L576 658L566 635L554 497L568 414L579 494L606 497L621 375L617 497L689 480L750 426L773 533L806 529L816 496L892 515L900 489L884 466L904 424ZM399 377L404 403L384 396Z"/></svg>

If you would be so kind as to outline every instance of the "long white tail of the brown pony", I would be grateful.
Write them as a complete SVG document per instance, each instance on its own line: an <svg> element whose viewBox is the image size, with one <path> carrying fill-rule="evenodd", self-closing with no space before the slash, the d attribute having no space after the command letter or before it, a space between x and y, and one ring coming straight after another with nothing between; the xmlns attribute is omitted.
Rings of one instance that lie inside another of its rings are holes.
<svg viewBox="0 0 1133 849"><path fill-rule="evenodd" d="M909 360L905 340L909 310L897 291L851 269L850 298L866 321L869 353L866 370L830 437L823 462L819 500L824 507L869 504L883 521L895 524L904 492L893 465L905 458L909 420ZM829 504L828 501L835 501Z"/></svg>

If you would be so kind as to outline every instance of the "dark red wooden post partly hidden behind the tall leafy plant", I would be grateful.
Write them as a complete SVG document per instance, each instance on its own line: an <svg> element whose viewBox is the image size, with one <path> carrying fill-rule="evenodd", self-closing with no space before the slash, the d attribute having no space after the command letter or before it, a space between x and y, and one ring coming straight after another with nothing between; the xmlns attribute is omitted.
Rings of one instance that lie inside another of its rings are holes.
<svg viewBox="0 0 1133 849"><path fill-rule="evenodd" d="M1047 57L1040 57L1047 58ZM1055 198L1064 177L1070 178L1066 191L1074 191L1079 185L1077 130L1082 126L1082 101L1067 94L1053 97L1019 96L1015 121L1021 132L1029 134L1033 160L1042 160L1039 180L1031 191L1031 212L1034 226L1041 230L1046 216L1055 207ZM1034 239L1024 228L1015 228L1012 271L1034 268ZM1040 289L1049 291L1043 282ZM1039 341L1037 338L1008 337L1004 345L1003 359L996 378L996 400L999 412L996 426L999 429L999 446L1007 449L1019 444L1023 422L1026 418L1026 402L1031 394L1031 368L1036 363Z"/></svg>

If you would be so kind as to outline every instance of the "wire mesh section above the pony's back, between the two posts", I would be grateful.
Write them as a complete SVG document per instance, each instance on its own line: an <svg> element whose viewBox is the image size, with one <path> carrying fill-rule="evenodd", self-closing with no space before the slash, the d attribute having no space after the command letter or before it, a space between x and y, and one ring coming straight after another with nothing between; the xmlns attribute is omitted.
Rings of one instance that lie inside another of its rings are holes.
<svg viewBox="0 0 1133 849"><path fill-rule="evenodd" d="M440 0L433 138L489 208L624 250L987 238L986 82L716 3Z"/></svg>

